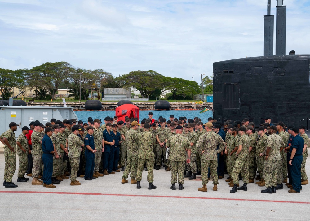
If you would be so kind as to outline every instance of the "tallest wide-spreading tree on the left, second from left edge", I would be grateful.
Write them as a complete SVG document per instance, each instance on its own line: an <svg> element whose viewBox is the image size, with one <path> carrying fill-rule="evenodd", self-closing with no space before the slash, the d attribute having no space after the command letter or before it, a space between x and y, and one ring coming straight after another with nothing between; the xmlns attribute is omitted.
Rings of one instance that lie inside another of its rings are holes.
<svg viewBox="0 0 310 221"><path fill-rule="evenodd" d="M47 62L40 66L33 67L28 72L28 82L31 88L46 88L51 91L52 99L55 98L59 85L75 69L68 62Z"/></svg>

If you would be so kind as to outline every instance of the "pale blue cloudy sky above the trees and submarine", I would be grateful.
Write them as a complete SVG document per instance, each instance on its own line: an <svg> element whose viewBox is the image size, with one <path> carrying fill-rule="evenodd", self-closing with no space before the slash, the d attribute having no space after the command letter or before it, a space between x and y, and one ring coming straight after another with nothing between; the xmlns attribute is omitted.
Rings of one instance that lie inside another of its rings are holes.
<svg viewBox="0 0 310 221"><path fill-rule="evenodd" d="M284 5L286 54L310 54L310 1ZM267 0L0 0L0 9L0 68L66 61L199 82L213 62L263 55Z"/></svg>

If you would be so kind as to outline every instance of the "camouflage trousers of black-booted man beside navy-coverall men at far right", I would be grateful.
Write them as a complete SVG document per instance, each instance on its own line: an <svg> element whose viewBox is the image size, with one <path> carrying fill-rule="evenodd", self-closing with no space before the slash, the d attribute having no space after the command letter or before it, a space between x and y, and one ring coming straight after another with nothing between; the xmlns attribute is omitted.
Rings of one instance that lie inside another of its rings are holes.
<svg viewBox="0 0 310 221"><path fill-rule="evenodd" d="M279 162L281 162L281 160L265 160L264 180L267 188L277 186Z"/></svg>

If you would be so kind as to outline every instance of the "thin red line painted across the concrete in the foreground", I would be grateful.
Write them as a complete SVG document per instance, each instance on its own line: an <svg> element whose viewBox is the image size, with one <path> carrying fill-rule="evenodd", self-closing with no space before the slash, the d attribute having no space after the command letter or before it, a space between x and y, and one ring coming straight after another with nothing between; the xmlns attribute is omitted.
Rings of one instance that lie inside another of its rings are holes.
<svg viewBox="0 0 310 221"><path fill-rule="evenodd" d="M110 193L70 193L70 192L41 192L41 191L0 191L0 193L53 193L53 194L95 195L95 196L163 197L163 198L184 198L184 199L204 199L204 200L236 200L236 201L310 204L310 202L280 201L280 200L234 199L234 198L214 198L214 197L182 197L182 196L158 196L158 195L131 195L131 194L110 194Z"/></svg>

